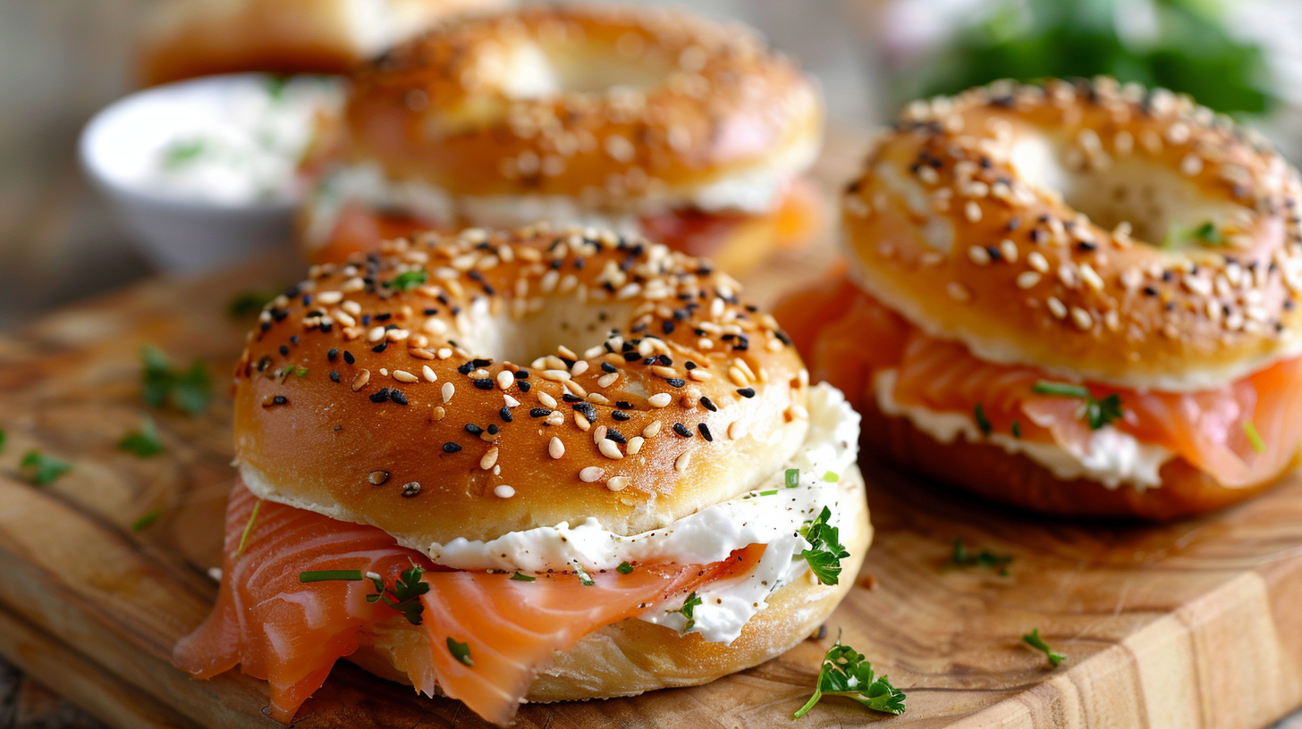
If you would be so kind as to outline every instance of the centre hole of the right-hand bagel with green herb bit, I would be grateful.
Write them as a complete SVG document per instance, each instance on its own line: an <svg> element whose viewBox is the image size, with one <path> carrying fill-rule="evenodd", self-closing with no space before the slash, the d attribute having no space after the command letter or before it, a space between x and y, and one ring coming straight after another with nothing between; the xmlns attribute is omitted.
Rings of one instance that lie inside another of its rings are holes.
<svg viewBox="0 0 1302 729"><path fill-rule="evenodd" d="M1138 241L1184 245L1189 230L1207 223L1219 228L1240 210L1229 200L1207 195L1180 171L1154 160L1133 156L1088 167L1072 160L1072 150L1066 139L1035 131L1014 143L1012 163L1029 184L1056 190L1068 207L1103 229L1128 223Z"/></svg>

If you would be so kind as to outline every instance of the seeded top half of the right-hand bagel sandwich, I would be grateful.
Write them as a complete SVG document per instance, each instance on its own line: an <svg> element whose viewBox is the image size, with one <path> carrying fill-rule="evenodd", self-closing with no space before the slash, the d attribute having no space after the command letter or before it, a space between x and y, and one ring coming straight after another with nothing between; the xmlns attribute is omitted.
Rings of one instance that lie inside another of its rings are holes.
<svg viewBox="0 0 1302 729"><path fill-rule="evenodd" d="M1299 191L1256 134L1101 78L915 102L842 203L857 281L928 335L1190 391L1302 350Z"/></svg>

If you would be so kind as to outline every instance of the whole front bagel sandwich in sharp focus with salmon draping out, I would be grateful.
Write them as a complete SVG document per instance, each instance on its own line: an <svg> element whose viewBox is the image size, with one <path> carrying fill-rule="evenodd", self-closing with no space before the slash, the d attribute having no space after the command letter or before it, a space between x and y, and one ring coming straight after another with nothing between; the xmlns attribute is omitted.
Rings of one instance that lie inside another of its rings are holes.
<svg viewBox="0 0 1302 729"><path fill-rule="evenodd" d="M858 417L710 263L546 227L316 266L236 367L214 612L294 717L339 659L506 724L807 638L871 538Z"/></svg>

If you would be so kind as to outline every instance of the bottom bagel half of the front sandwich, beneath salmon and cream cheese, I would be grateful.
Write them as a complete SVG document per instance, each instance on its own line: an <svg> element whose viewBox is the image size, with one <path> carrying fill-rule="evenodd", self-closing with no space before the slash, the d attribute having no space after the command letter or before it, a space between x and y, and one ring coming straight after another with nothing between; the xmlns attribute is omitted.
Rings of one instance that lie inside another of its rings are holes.
<svg viewBox="0 0 1302 729"><path fill-rule="evenodd" d="M557 652L539 670L526 699L534 703L604 699L697 686L759 665L809 638L855 585L872 542L863 475L853 467L841 480L846 487L841 504L850 510L841 517L840 539L850 556L841 561L837 585L811 583L807 574L784 585L729 646L706 642L699 634L680 635L637 618L608 625L573 648ZM401 617L389 621L388 627L392 630L372 635L348 660L380 678L410 685L395 648L405 640L427 638L423 629L406 625Z"/></svg>

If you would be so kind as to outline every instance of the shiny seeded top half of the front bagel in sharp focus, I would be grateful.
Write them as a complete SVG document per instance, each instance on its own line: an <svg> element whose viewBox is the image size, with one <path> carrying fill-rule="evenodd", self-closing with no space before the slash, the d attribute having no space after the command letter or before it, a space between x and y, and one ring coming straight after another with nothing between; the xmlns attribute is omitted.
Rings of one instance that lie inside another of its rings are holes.
<svg viewBox="0 0 1302 729"><path fill-rule="evenodd" d="M241 475L406 543L663 527L805 440L807 372L740 293L702 260L578 229L314 267L237 364Z"/></svg>

